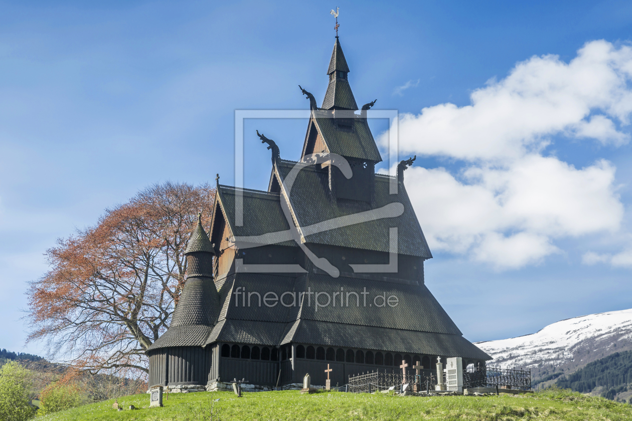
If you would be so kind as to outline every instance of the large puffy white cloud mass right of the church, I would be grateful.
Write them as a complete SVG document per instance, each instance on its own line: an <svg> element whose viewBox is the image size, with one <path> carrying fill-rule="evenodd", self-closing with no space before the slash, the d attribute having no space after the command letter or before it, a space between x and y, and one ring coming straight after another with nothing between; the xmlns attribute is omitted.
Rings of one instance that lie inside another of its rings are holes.
<svg viewBox="0 0 632 421"><path fill-rule="evenodd" d="M463 163L454 174L441 168L406 171L406 188L430 247L520 268L561 252L556 239L619 230L624 208L614 165L596 159L578 169L544 150L556 135L627 143L631 82L632 49L594 41L569 63L557 56L518 63L503 80L473 92L471 105L440 104L404 114L401 153ZM381 141L386 144L386 134ZM585 254L583 261L603 258ZM632 266L632 252L608 261Z"/></svg>

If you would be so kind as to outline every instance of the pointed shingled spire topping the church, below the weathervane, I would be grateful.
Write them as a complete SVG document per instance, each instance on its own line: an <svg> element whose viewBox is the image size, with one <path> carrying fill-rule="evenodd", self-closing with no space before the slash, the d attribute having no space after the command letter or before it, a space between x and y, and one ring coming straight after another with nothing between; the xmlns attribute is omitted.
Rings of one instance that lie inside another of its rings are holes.
<svg viewBox="0 0 632 421"><path fill-rule="evenodd" d="M325 99L322 102L322 107L325 110L330 109L347 109L357 110L358 105L351 92L351 86L347 80L347 73L349 73L349 66L344 58L343 47L340 46L338 37L336 37L336 44L334 44L334 50L331 53L331 60L329 61L329 86L327 86L327 93L325 93Z"/></svg>

